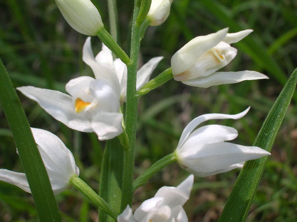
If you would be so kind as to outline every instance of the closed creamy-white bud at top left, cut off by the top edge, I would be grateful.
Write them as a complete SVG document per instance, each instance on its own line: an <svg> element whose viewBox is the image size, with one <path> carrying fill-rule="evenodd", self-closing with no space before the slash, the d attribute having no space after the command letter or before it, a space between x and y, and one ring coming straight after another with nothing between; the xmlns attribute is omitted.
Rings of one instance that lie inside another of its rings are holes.
<svg viewBox="0 0 297 222"><path fill-rule="evenodd" d="M96 36L103 28L101 16L91 0L55 0L63 17L77 32Z"/></svg>

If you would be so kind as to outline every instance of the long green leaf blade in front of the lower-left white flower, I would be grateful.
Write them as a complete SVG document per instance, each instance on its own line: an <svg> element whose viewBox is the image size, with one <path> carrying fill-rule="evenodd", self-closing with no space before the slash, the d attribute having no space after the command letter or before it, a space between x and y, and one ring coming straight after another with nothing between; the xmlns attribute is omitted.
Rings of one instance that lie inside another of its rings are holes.
<svg viewBox="0 0 297 222"><path fill-rule="evenodd" d="M61 222L49 183L49 176L31 133L25 112L1 59L0 102L18 148L40 221Z"/></svg>

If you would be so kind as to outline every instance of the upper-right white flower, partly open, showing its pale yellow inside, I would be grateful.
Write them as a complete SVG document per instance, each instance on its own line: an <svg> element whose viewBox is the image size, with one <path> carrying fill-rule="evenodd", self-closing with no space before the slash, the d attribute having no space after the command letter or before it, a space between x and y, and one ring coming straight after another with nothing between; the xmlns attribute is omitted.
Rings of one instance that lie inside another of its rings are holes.
<svg viewBox="0 0 297 222"><path fill-rule="evenodd" d="M228 28L225 28L207 36L198 36L178 50L171 58L174 79L201 88L245 80L268 79L267 76L255 71L216 72L236 56L237 49L230 44L239 42L252 30L227 32Z"/></svg>

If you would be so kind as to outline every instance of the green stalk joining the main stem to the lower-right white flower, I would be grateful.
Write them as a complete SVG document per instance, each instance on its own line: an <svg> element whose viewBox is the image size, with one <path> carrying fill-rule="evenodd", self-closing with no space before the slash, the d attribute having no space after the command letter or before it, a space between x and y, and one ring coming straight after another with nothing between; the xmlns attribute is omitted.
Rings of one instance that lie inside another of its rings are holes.
<svg viewBox="0 0 297 222"><path fill-rule="evenodd" d="M176 154L175 152L164 156L162 159L155 162L151 165L141 176L136 178L133 182L133 190L135 191L138 187L146 184L148 179L150 179L155 173L162 170L164 167L174 163L176 161Z"/></svg>

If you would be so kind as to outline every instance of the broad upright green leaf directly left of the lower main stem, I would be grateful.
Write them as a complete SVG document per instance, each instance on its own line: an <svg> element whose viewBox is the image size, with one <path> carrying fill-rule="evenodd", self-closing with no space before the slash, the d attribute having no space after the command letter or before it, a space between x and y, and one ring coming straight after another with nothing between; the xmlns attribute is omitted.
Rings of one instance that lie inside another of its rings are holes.
<svg viewBox="0 0 297 222"><path fill-rule="evenodd" d="M102 197L117 213L120 212L122 197L123 147L119 139L106 141L101 167L99 196ZM99 211L99 222L114 222L102 211Z"/></svg>

